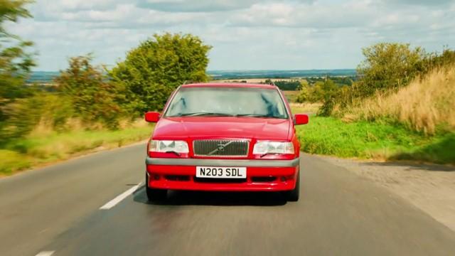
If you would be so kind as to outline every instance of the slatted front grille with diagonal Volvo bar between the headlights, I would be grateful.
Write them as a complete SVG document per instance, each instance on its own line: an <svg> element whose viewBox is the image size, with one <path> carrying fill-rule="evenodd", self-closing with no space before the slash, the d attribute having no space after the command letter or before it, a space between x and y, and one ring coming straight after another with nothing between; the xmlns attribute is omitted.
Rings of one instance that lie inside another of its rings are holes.
<svg viewBox="0 0 455 256"><path fill-rule="evenodd" d="M200 139L193 142L196 156L247 156L247 140Z"/></svg>

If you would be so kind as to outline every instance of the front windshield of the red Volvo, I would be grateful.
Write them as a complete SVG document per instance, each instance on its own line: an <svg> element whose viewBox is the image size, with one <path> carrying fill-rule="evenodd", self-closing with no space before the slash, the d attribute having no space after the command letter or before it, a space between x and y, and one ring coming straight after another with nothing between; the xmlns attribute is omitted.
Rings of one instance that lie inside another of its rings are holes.
<svg viewBox="0 0 455 256"><path fill-rule="evenodd" d="M279 92L254 87L182 87L165 117L232 116L287 119Z"/></svg>

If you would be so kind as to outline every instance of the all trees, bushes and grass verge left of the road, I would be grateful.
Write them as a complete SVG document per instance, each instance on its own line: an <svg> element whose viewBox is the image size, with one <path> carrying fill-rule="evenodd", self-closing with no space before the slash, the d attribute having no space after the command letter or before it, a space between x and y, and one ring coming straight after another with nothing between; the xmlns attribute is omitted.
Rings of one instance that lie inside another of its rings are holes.
<svg viewBox="0 0 455 256"><path fill-rule="evenodd" d="M163 33L112 69L93 65L90 54L75 56L51 85L26 84L35 66L33 43L4 23L31 18L29 3L0 5L0 176L144 140L153 129L144 112L161 110L183 82L208 80L211 47L197 36Z"/></svg>

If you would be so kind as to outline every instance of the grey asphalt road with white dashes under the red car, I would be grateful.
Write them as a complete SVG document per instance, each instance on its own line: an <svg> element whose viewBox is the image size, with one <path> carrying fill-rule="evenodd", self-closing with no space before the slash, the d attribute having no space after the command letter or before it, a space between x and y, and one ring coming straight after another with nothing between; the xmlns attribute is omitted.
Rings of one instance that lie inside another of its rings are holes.
<svg viewBox="0 0 455 256"><path fill-rule="evenodd" d="M130 146L0 179L0 255L455 255L449 228L317 156L302 157L296 203L171 192L149 204L134 187L144 152ZM125 191L135 192L120 200Z"/></svg>

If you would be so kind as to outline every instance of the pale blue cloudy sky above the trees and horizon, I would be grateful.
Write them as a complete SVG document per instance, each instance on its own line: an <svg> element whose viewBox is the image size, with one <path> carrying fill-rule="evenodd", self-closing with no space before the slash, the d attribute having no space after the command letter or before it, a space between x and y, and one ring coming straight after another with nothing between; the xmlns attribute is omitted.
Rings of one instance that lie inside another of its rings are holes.
<svg viewBox="0 0 455 256"><path fill-rule="evenodd" d="M92 53L108 66L154 33L213 46L208 70L355 68L379 42L455 48L455 0L36 0L9 30L35 43L35 70Z"/></svg>

